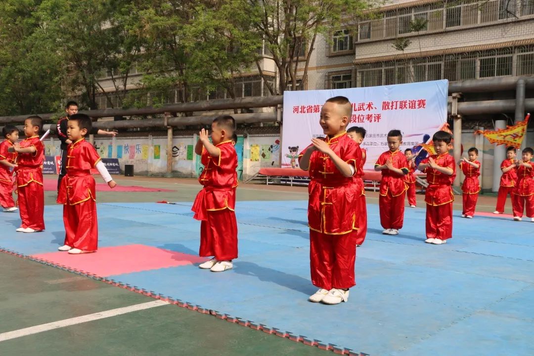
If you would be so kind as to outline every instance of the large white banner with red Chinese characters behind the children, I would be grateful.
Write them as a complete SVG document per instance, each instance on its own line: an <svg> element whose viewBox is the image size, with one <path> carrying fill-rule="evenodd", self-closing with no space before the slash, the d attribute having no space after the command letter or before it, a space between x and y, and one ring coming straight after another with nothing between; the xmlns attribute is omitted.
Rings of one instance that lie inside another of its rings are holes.
<svg viewBox="0 0 534 356"><path fill-rule="evenodd" d="M307 90L284 92L282 126L282 167L298 167L296 156L311 143L324 137L319 125L321 106L328 98L347 97L352 103L348 128L367 130L362 147L367 149L365 169L374 169L378 156L388 151L390 130L403 134L404 151L426 143L447 121L449 81L433 81L370 88ZM293 162L293 164L292 164Z"/></svg>

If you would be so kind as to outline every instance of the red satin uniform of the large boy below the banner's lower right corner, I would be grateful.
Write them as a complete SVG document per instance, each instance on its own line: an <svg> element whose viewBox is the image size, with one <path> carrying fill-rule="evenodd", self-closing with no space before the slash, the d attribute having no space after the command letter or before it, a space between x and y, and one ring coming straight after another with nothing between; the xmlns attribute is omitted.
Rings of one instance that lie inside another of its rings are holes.
<svg viewBox="0 0 534 356"><path fill-rule="evenodd" d="M456 177L456 163L454 157L448 152L430 157L439 167L452 169L451 176L430 167L423 171L427 175L428 182L425 194L427 239L446 240L452 238L452 202L454 201L452 183ZM428 163L428 157L421 163Z"/></svg>

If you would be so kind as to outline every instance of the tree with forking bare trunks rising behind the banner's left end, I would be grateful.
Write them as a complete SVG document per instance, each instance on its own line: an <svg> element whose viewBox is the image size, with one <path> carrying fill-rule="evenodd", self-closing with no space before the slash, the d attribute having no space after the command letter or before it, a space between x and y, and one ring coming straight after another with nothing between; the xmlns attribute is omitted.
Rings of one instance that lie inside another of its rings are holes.
<svg viewBox="0 0 534 356"><path fill-rule="evenodd" d="M242 0L249 13L254 35L264 39L272 60L278 68L278 88L269 86L271 94L282 94L299 87L308 74L311 53L318 35L329 37L329 31L341 25L356 23L355 19L370 6L366 0ZM343 17L342 17L343 14ZM345 15L348 14L348 15ZM256 66L265 78L256 58ZM265 81L267 82L267 81Z"/></svg>

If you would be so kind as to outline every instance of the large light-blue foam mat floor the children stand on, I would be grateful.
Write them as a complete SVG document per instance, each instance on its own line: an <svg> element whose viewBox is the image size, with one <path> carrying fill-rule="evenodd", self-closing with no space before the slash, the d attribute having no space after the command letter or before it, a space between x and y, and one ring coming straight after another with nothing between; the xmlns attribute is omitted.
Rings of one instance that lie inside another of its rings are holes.
<svg viewBox="0 0 534 356"><path fill-rule="evenodd" d="M99 247L145 244L197 255L200 223L190 209L187 202L98 204ZM186 265L111 278L354 352L534 354L533 223L462 219L454 211L453 239L436 246L423 242L425 209L406 208L397 236L381 234L378 205L367 209L348 303L307 301L317 288L306 201L238 202L233 270ZM15 233L18 214L0 214L0 247L23 255L56 251L64 238L61 210L46 206L46 231L34 234Z"/></svg>

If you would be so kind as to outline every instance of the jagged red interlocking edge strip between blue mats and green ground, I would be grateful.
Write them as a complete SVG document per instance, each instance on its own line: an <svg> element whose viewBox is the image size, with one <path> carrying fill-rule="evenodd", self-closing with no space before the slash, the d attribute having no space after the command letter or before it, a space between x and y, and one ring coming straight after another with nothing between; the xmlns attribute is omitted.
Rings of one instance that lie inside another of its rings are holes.
<svg viewBox="0 0 534 356"><path fill-rule="evenodd" d="M271 327L268 327L268 326L266 326L264 324L255 323L253 321L249 321L249 320L245 320L245 319L240 319L238 317L233 317L232 315L229 315L229 314L219 313L219 312L217 312L215 310L203 308L200 305L195 305L195 304L192 304L192 303L183 302L180 299L172 298L172 297L169 297L169 296L164 296L161 293L156 294L156 292L153 291L153 290L148 291L148 290L146 290L144 288L139 288L137 286L131 286L128 283L122 283L122 282L116 281L114 279L101 277L101 276L98 276L96 274L89 273L89 272L86 272L86 271L80 271L80 270L77 270L76 268L71 268L71 267L68 267L68 266L59 265L59 264L53 263L53 262L51 262L49 260L45 260L45 259L42 259L42 258L36 258L36 257L33 257L33 256L27 256L27 255L19 254L19 252L15 252L15 251L11 251L11 250L8 250L8 249L4 249L2 247L0 247L0 252L4 252L5 254L17 256L17 257L24 258L24 259L29 259L30 261L38 262L38 263L45 264L45 265L48 265L48 266L60 268L61 270L64 270L64 271L67 271L67 272L70 272L70 273L79 274L79 275L82 275L82 276L85 276L87 278L91 278L91 279L94 279L94 280L97 280L97 281L102 281L104 283L111 284L112 286L120 287L120 288L123 288L123 289L127 289L127 290L130 290L130 291L145 295L147 297L152 297L154 299L161 299L164 302L169 302L169 304L174 304L174 305L177 305L177 306L182 307L182 308L187 308L189 310L197 311L197 312L202 313L202 314L213 315L213 317L215 317L217 319L226 320L226 321L229 321L231 323L235 323L235 324L239 324L239 325L244 326L244 327L248 327L250 329L263 331L266 334L276 335L278 337L286 338L286 339L289 339L290 341L297 342L297 343L303 343L304 345L308 345L308 346L315 346L315 347L318 347L321 350L332 351L332 352L334 352L336 354L340 354L340 355L370 356L370 354L367 354L367 353L364 353L364 352L355 352L355 351L353 351L351 349L347 349L346 347L340 347L340 346L337 346L335 344L323 343L323 342L321 342L321 341L319 341L317 339L310 339L310 338L307 338L307 337L302 336L302 335L297 335L297 334L290 333L289 331L281 331L281 330L279 330L277 328L271 328Z"/></svg>

